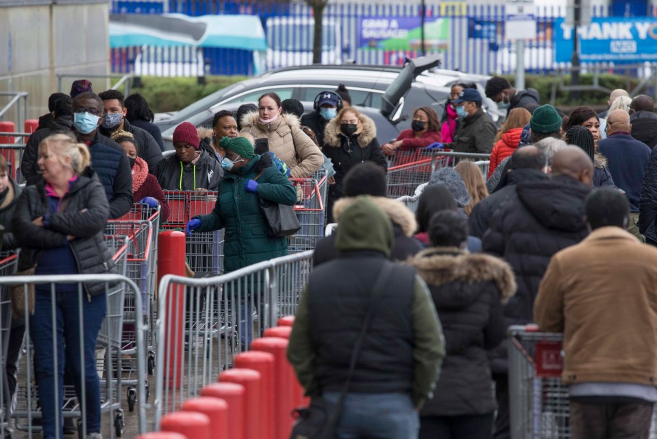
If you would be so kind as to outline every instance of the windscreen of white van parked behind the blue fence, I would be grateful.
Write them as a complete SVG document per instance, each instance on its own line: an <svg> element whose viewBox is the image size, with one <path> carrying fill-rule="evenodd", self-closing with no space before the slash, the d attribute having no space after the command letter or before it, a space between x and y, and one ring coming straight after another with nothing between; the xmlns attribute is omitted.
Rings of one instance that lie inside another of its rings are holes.
<svg viewBox="0 0 657 439"><path fill-rule="evenodd" d="M267 45L274 51L312 51L314 25L312 23L269 23ZM336 47L336 28L330 23L322 26L322 50Z"/></svg>

